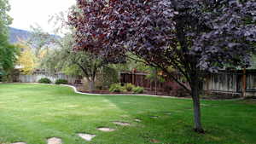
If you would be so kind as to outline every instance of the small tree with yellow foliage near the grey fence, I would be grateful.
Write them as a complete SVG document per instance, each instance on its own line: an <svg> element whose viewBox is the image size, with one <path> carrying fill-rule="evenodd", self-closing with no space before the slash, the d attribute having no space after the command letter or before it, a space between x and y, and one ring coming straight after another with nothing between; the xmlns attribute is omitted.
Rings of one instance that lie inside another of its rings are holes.
<svg viewBox="0 0 256 144"><path fill-rule="evenodd" d="M35 55L32 49L24 43L18 43L20 48L20 56L18 58L18 65L20 66L22 74L31 74L36 67Z"/></svg>

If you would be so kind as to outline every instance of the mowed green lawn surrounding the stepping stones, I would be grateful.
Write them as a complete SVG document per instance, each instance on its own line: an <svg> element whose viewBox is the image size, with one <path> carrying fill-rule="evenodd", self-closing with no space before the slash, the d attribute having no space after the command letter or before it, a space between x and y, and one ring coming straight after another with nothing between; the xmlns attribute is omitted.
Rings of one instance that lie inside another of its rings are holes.
<svg viewBox="0 0 256 144"><path fill-rule="evenodd" d="M205 135L193 129L192 101L128 95L79 95L64 86L0 84L0 143L253 144L255 101L201 101ZM158 116L158 118L151 118ZM139 118L142 121L136 122ZM119 126L113 121L130 123ZM96 130L99 127L113 132ZM96 135L84 141L77 134Z"/></svg>

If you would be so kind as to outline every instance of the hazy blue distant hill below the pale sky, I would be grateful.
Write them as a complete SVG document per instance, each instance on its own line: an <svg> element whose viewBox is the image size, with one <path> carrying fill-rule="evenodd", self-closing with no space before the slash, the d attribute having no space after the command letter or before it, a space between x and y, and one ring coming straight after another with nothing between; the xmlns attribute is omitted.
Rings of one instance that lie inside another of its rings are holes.
<svg viewBox="0 0 256 144"><path fill-rule="evenodd" d="M56 35L51 36L55 38L60 38ZM14 27L9 27L9 43L17 43L20 40L26 41L29 40L30 37L32 37L32 32L20 30Z"/></svg>

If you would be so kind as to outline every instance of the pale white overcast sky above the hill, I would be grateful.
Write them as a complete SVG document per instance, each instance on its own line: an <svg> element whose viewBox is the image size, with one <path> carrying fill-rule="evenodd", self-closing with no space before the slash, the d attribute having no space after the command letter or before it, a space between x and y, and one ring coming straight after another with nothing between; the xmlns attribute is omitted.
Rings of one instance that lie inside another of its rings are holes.
<svg viewBox="0 0 256 144"><path fill-rule="evenodd" d="M54 24L49 24L51 15L67 11L76 0L9 0L9 15L14 19L12 27L31 30L41 26L45 32L53 33Z"/></svg>

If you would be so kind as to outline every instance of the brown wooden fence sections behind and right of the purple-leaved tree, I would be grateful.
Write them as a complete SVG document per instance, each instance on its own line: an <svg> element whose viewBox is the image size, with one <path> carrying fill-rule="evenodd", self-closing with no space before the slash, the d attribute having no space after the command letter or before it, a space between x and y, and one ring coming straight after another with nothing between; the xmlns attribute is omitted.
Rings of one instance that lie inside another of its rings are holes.
<svg viewBox="0 0 256 144"><path fill-rule="evenodd" d="M150 81L146 73L121 72L120 82L131 83L144 87L148 90L165 91L168 88L179 89L180 87L172 81L161 83ZM243 78L245 78L243 80ZM245 88L246 95L256 95L256 70L221 71L208 74L202 84L202 89L210 93L241 95Z"/></svg>

